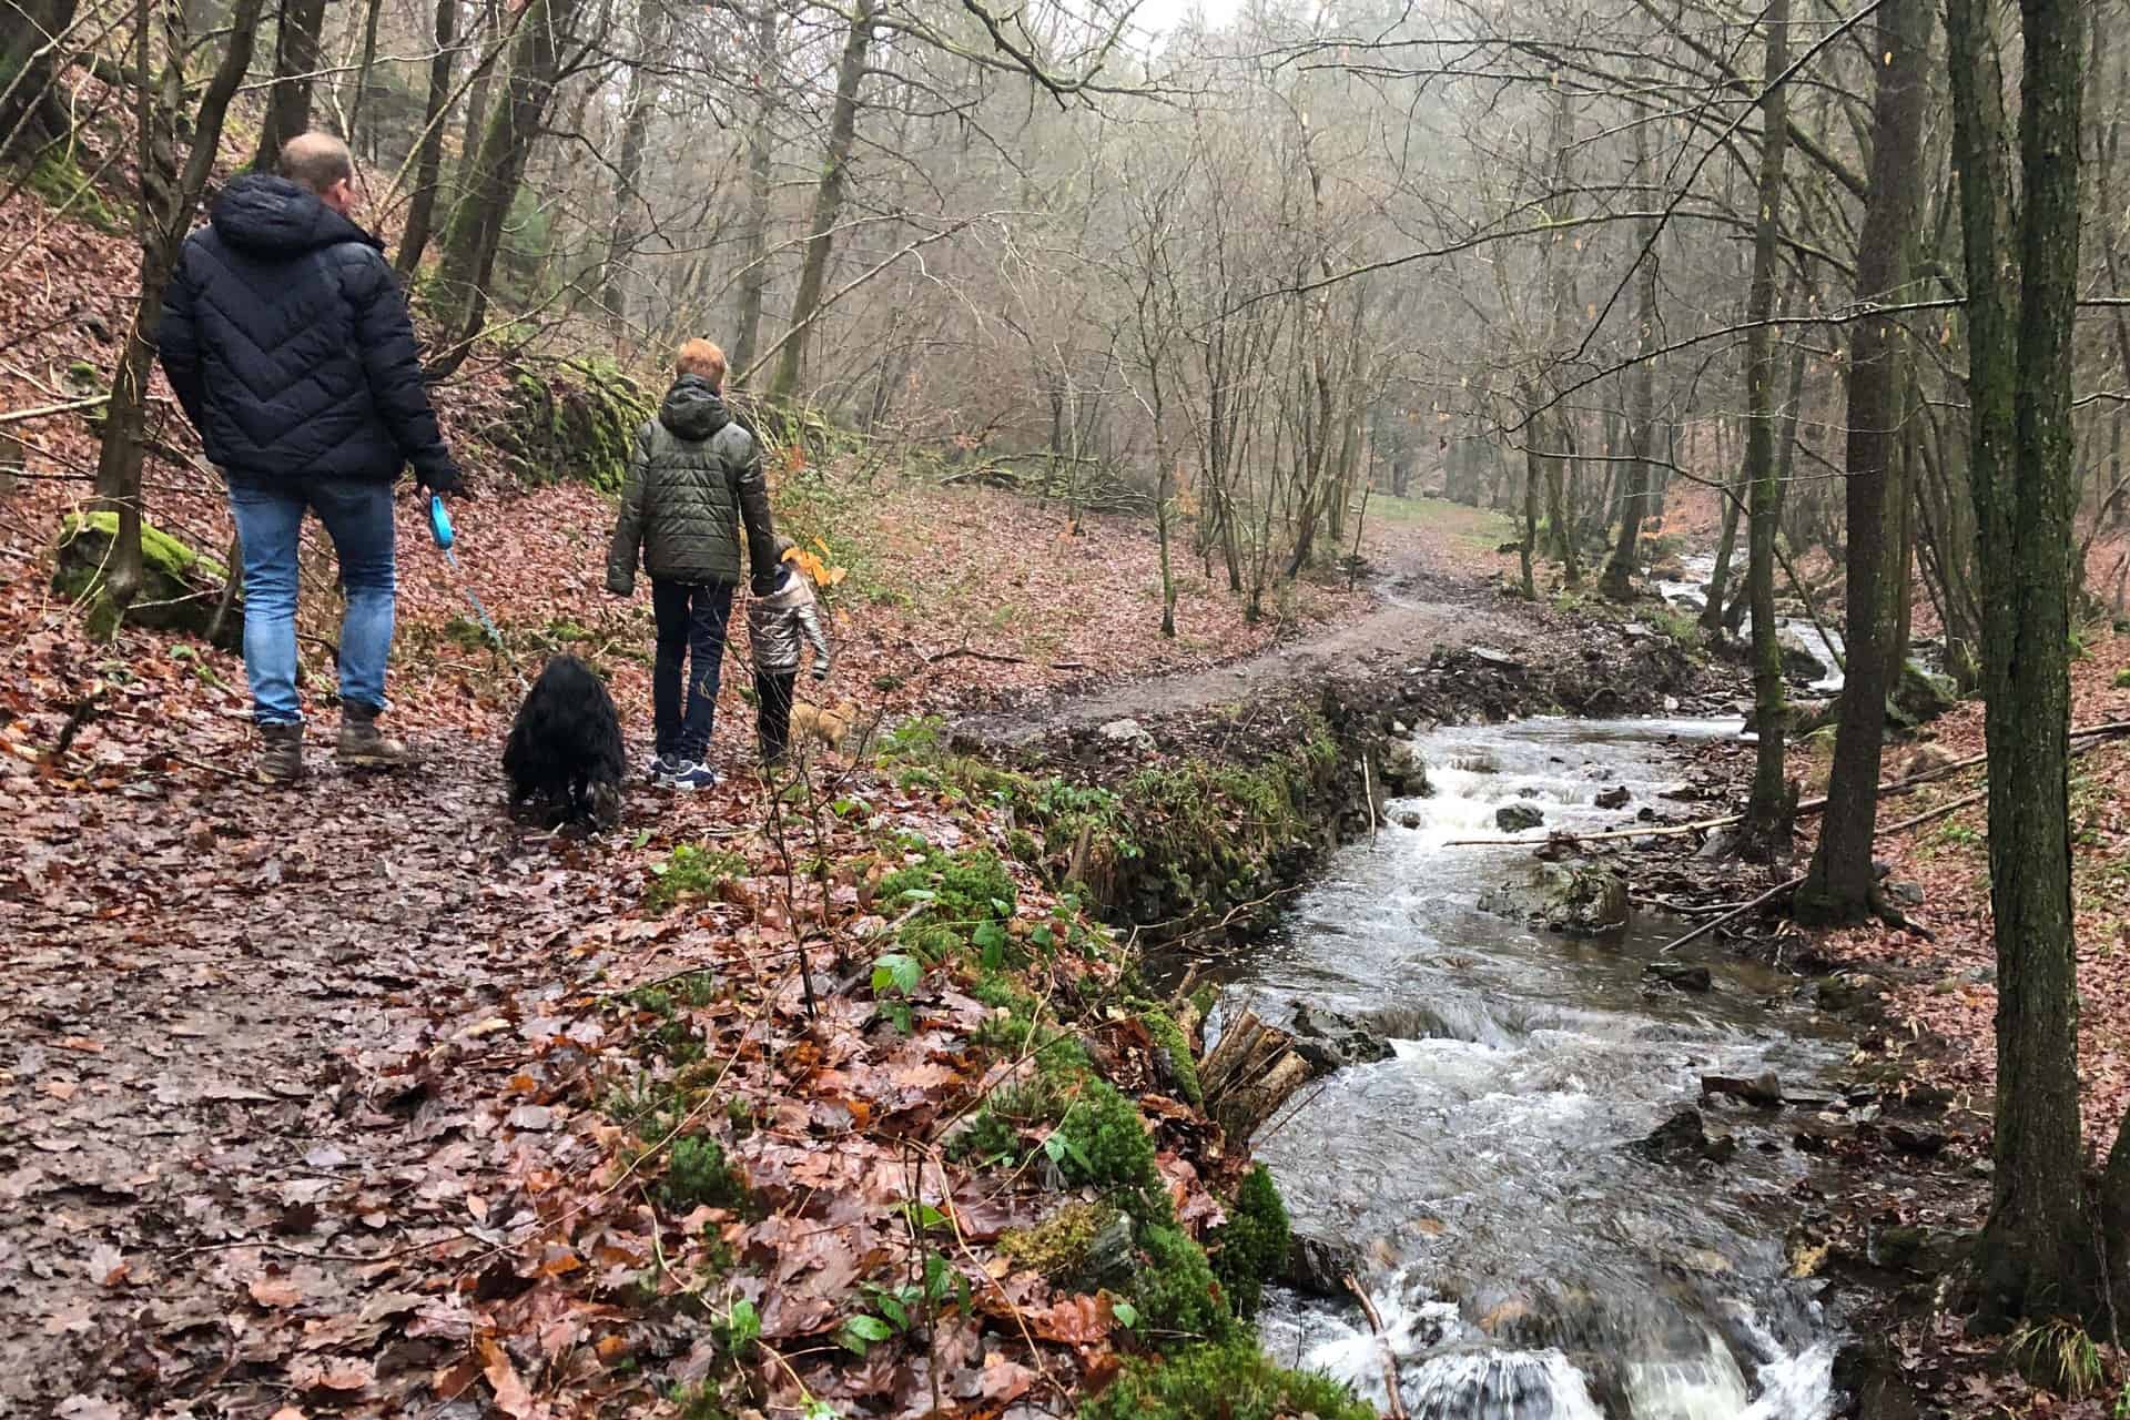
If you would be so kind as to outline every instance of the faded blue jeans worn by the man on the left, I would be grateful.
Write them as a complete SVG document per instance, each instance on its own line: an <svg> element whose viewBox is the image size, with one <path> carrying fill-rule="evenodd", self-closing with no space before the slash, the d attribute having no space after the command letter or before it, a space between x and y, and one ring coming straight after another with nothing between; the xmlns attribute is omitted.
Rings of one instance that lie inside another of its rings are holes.
<svg viewBox="0 0 2130 1420"><path fill-rule="evenodd" d="M317 513L341 558L341 703L386 707L392 649L392 485L358 479L230 483L230 513L245 556L245 675L251 720L302 724L296 700L296 547L305 511Z"/></svg>

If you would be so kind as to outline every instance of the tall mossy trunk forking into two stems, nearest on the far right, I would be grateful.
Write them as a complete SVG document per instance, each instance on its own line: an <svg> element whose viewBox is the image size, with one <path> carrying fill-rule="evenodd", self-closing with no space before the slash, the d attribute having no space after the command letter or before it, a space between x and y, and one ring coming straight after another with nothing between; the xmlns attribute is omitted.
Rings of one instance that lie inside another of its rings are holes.
<svg viewBox="0 0 2130 1420"><path fill-rule="evenodd" d="M2021 0L2024 213L1987 0L1949 0L1968 277L1970 483L1983 577L1989 905L1998 954L1996 1171L1977 1245L1987 1320L2090 1297L2070 915L2070 317L2079 253L2079 11ZM2017 241L2017 251L2009 245ZM2015 275L2017 273L2017 275ZM2017 283L2017 285L2015 285ZM2017 302L2017 328L2013 309Z"/></svg>

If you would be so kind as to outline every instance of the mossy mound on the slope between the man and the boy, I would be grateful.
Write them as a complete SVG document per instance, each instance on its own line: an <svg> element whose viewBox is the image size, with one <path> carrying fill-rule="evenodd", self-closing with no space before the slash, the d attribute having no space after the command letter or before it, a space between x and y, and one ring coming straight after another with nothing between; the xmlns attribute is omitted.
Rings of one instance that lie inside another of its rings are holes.
<svg viewBox="0 0 2130 1420"><path fill-rule="evenodd" d="M528 483L590 483L620 492L637 428L656 413L643 385L607 360L564 360L543 370L518 368L509 383L511 417L496 445Z"/></svg>

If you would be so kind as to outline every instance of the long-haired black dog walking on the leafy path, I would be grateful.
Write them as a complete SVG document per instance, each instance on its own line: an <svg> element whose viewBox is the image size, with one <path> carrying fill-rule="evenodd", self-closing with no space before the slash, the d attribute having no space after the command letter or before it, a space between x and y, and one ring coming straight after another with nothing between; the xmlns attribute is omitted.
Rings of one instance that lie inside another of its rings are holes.
<svg viewBox="0 0 2130 1420"><path fill-rule="evenodd" d="M511 743L503 747L511 781L511 813L539 803L550 822L613 824L628 773L622 717L599 671L575 656L556 656L518 707Z"/></svg>

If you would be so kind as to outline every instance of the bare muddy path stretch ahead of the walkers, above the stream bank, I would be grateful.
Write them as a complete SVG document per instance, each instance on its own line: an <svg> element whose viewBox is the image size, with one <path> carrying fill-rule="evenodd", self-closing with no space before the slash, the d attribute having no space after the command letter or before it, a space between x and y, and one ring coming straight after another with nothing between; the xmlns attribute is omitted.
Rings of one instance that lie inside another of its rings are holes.
<svg viewBox="0 0 2130 1420"><path fill-rule="evenodd" d="M1519 649L1544 630L1529 607L1502 602L1489 583L1404 568L1378 588L1367 615L1312 630L1269 651L1206 671L1186 671L1110 690L1048 696L1010 711L969 715L956 730L984 743L1018 745L1039 734L1112 720L1189 715L1240 705L1295 683L1363 677L1436 645Z"/></svg>

